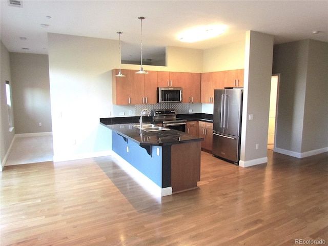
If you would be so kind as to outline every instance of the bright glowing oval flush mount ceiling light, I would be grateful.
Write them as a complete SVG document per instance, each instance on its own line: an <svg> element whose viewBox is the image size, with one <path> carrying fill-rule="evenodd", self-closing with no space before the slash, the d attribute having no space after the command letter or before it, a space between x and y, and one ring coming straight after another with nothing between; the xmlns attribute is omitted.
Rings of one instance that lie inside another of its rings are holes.
<svg viewBox="0 0 328 246"><path fill-rule="evenodd" d="M195 43L221 35L226 30L224 26L196 27L179 35L179 40L186 43Z"/></svg>

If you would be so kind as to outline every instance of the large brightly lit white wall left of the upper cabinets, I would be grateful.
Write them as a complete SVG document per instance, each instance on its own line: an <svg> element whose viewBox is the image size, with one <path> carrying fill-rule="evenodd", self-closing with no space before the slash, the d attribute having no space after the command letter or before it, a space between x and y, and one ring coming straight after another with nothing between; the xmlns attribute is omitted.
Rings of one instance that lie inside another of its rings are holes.
<svg viewBox="0 0 328 246"><path fill-rule="evenodd" d="M115 40L48 34L54 160L107 155Z"/></svg>

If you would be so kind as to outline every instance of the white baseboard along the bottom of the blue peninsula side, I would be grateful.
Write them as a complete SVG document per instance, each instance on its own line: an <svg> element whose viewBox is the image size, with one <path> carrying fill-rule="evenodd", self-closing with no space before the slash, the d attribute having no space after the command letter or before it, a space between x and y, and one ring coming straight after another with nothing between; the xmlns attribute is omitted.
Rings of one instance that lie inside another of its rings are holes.
<svg viewBox="0 0 328 246"><path fill-rule="evenodd" d="M140 186L145 188L149 193L156 197L169 196L172 195L172 187L161 188L156 183L153 182L145 174L141 173L135 167L133 167L128 161L120 157L113 151L112 156L118 160L118 165L126 171L131 178L133 178Z"/></svg>

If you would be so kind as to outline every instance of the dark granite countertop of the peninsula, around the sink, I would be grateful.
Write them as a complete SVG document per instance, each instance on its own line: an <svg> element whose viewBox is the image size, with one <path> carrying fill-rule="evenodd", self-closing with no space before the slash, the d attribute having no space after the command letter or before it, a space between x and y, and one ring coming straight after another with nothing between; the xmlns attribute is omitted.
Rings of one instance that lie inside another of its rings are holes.
<svg viewBox="0 0 328 246"><path fill-rule="evenodd" d="M107 125L100 122L100 124L111 129L122 137L131 139L140 146L165 146L203 140L203 138L201 137L190 135L188 133L180 132L173 129L164 131L140 132L140 129L133 127L133 125L137 125L135 123ZM144 124L148 124L147 121L145 121Z"/></svg>

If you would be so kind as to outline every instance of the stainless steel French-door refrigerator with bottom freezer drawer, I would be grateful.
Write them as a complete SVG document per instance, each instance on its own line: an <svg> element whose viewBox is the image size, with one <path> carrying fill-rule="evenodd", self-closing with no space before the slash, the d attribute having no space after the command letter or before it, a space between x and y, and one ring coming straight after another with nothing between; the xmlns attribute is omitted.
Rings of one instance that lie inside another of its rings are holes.
<svg viewBox="0 0 328 246"><path fill-rule="evenodd" d="M213 155L238 165L242 89L214 90Z"/></svg>

